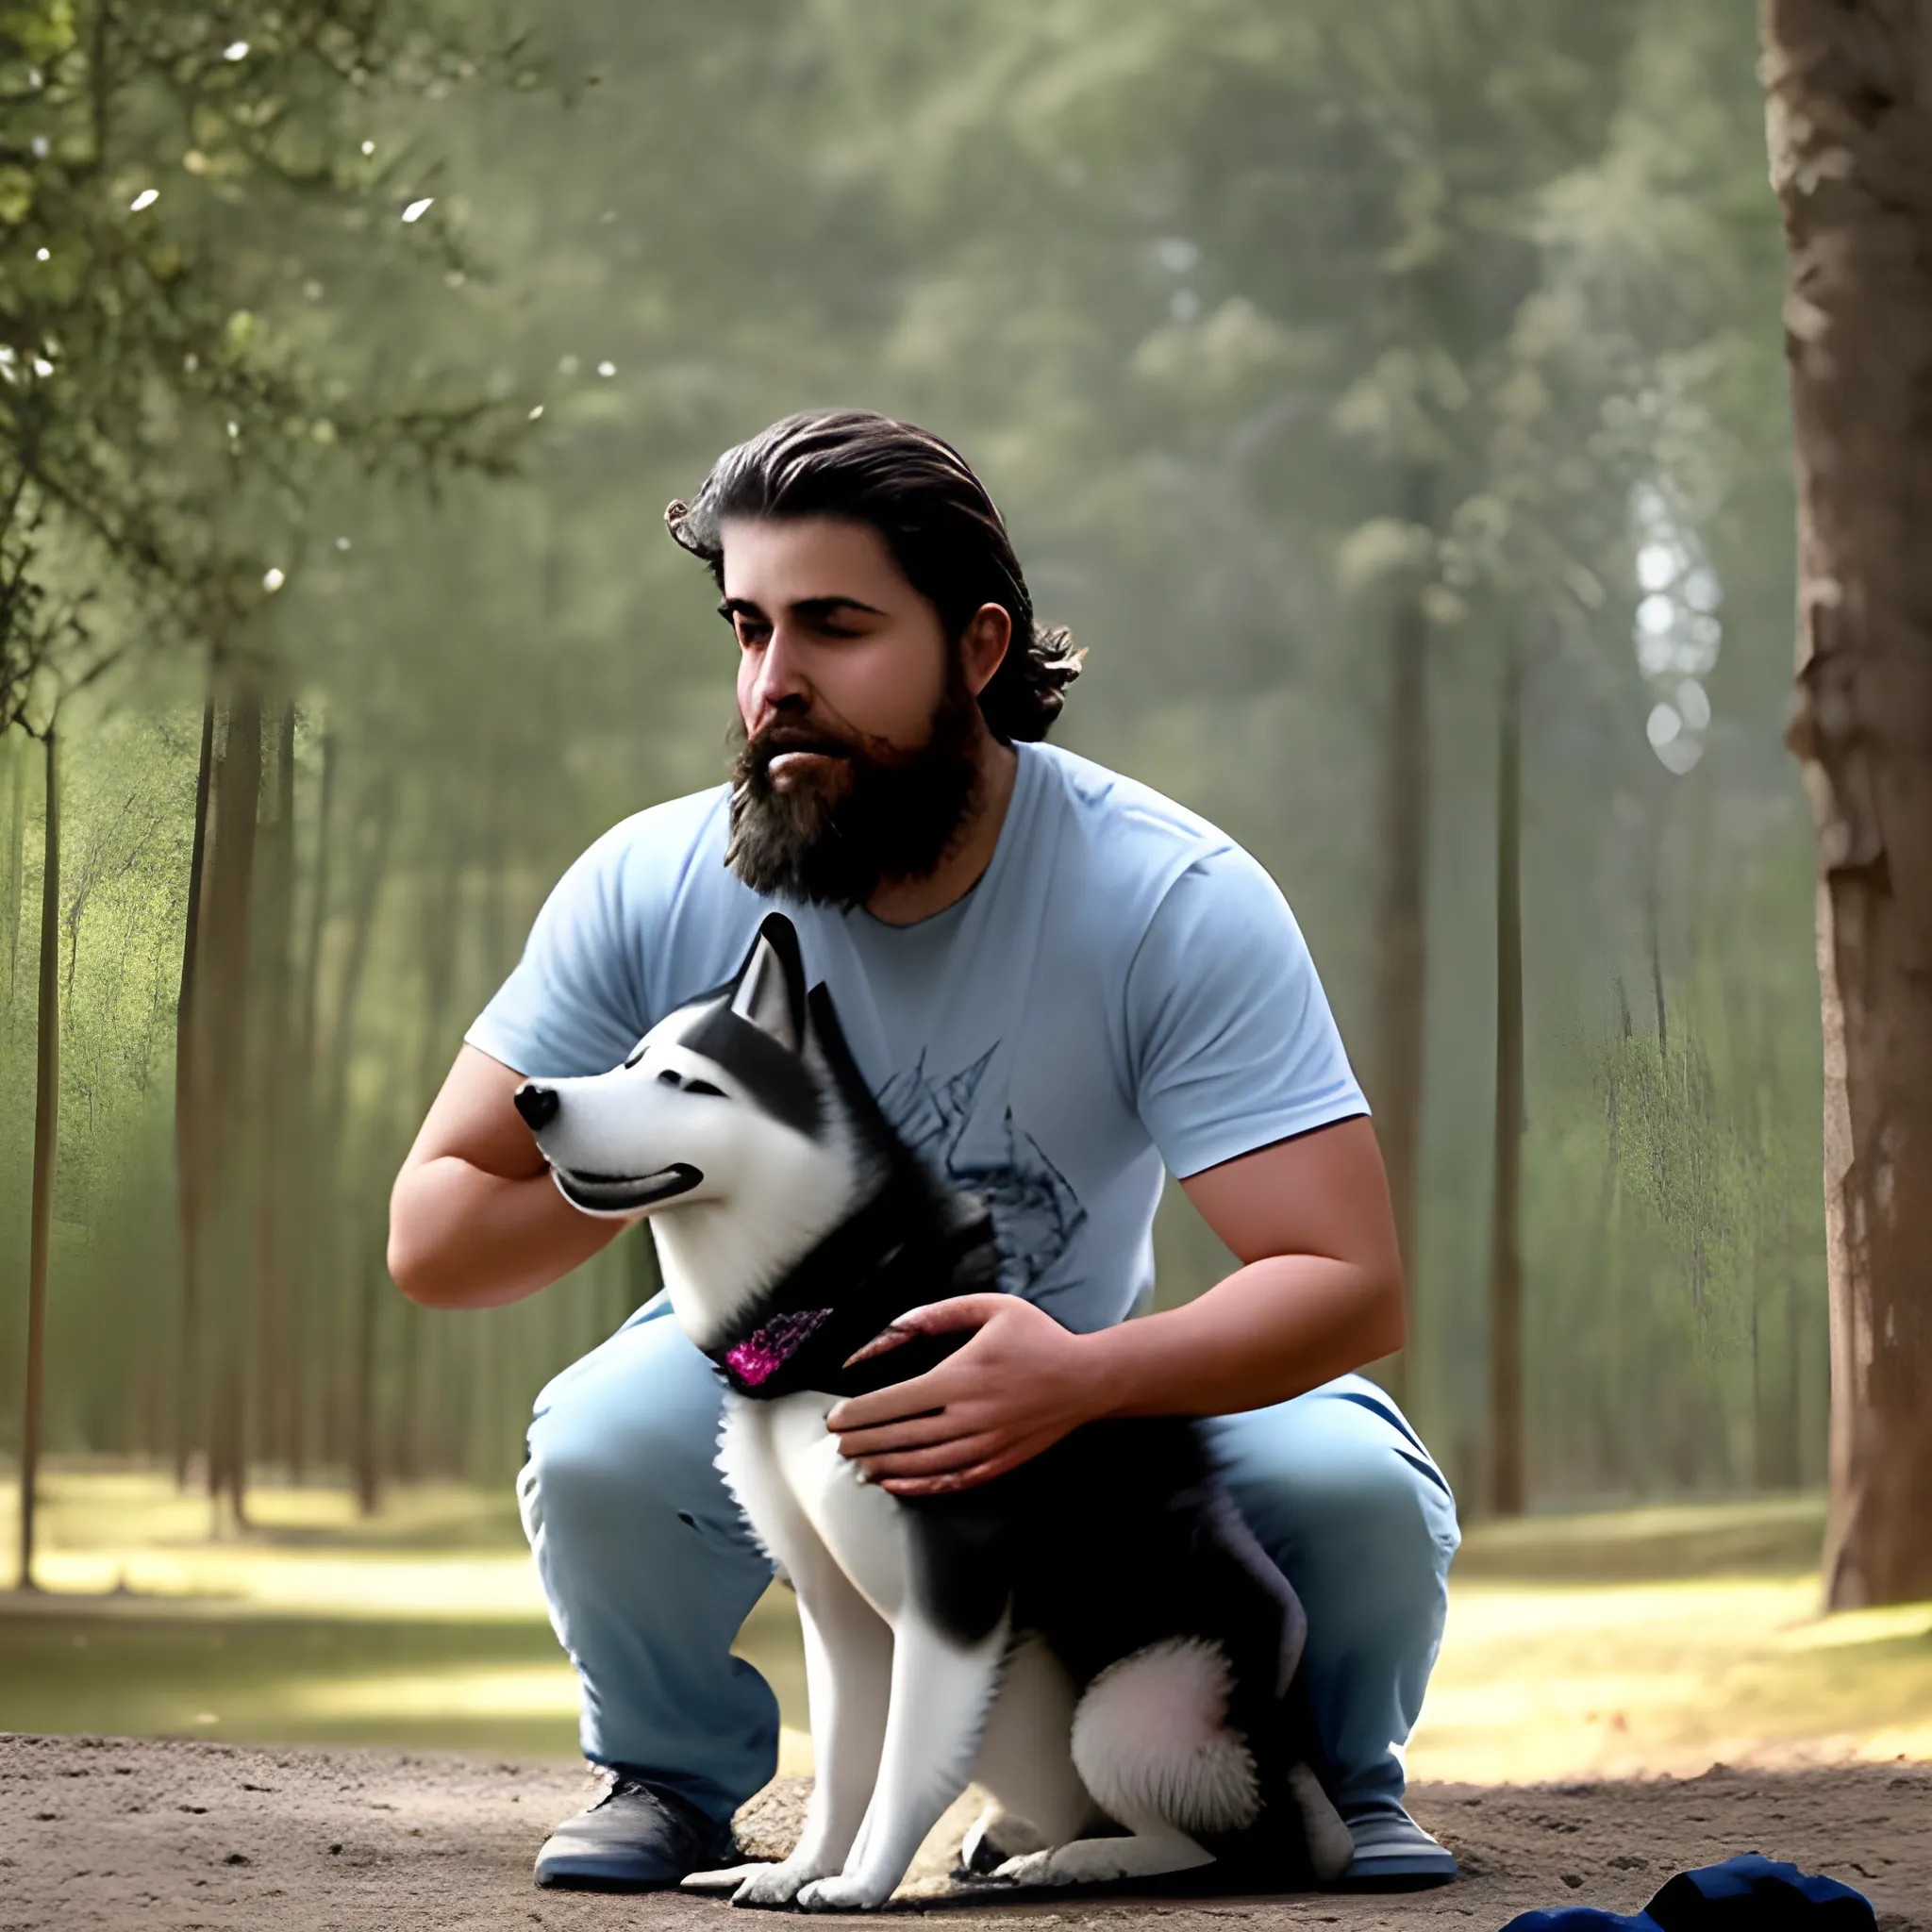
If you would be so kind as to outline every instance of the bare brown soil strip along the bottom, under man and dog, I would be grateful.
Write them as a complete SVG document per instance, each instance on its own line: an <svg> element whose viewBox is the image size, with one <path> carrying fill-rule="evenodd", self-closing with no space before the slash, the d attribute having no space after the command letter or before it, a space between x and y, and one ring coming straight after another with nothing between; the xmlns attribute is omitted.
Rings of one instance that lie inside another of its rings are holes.
<svg viewBox="0 0 1932 1932"><path fill-rule="evenodd" d="M41 1928L440 1926L705 1932L730 1907L678 1895L537 1891L547 1826L583 1803L558 1764L379 1750L294 1750L174 1739L0 1737L0 1932ZM777 1855L804 1785L782 1779L740 1814ZM1434 1891L1281 1899L1034 1901L939 1891L895 1907L966 1924L1018 1920L1163 1932L1273 1926L1457 1926L1493 1932L1536 1905L1636 1911L1681 1868L1739 1851L1857 1886L1882 1932L1932 1932L1932 1766L1729 1772L1565 1785L1420 1785L1410 1808L1463 1861ZM734 1920L744 1924L746 1920Z"/></svg>

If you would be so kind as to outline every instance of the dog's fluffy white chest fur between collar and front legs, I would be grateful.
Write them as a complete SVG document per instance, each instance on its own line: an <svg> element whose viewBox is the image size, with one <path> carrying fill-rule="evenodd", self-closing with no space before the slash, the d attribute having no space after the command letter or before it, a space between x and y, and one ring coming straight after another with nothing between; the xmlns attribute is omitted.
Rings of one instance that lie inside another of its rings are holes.
<svg viewBox="0 0 1932 1932"><path fill-rule="evenodd" d="M904 1505L838 1453L825 1426L837 1401L813 1389L769 1403L726 1395L719 1470L794 1582L829 1561L891 1623L906 1602Z"/></svg>

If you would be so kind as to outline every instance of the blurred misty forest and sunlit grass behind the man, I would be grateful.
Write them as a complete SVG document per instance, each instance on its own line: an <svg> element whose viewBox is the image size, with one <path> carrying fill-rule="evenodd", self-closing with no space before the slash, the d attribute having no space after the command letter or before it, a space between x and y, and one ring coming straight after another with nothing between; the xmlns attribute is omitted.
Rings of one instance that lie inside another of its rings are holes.
<svg viewBox="0 0 1932 1932"><path fill-rule="evenodd" d="M50 601L0 711L8 1445L37 1122L56 1157L0 1725L570 1750L508 1484L651 1250L427 1312L386 1192L562 867L723 775L730 639L661 512L813 404L966 452L1090 649L1057 742L1308 933L1406 1236L1378 1374L1478 1524L1414 1766L1932 1706L1895 1613L1801 1629L1820 1037L1750 10L124 12L120 70L56 29L0 64L0 377L48 448L93 398L12 531ZM1229 1265L1179 1196L1159 1265Z"/></svg>

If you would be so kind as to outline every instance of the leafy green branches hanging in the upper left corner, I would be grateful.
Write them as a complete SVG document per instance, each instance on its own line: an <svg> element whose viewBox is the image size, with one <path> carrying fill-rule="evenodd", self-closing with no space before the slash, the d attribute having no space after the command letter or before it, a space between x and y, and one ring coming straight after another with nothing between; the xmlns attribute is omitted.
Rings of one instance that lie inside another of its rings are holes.
<svg viewBox="0 0 1932 1932"><path fill-rule="evenodd" d="M44 724L129 632L257 616L338 448L506 462L500 408L371 383L357 303L323 307L323 274L367 299L458 272L440 218L396 220L419 158L355 139L475 73L435 25L386 0L0 15L0 730ZM97 614L102 574L137 618Z"/></svg>

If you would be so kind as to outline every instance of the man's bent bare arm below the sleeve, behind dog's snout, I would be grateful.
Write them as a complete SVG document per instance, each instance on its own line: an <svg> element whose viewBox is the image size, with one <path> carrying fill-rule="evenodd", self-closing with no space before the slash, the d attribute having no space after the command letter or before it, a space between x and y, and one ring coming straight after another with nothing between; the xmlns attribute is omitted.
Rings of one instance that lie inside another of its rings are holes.
<svg viewBox="0 0 1932 1932"><path fill-rule="evenodd" d="M556 1192L510 1095L520 1072L464 1047L388 1198L388 1271L412 1302L518 1302L609 1246L626 1221Z"/></svg>

